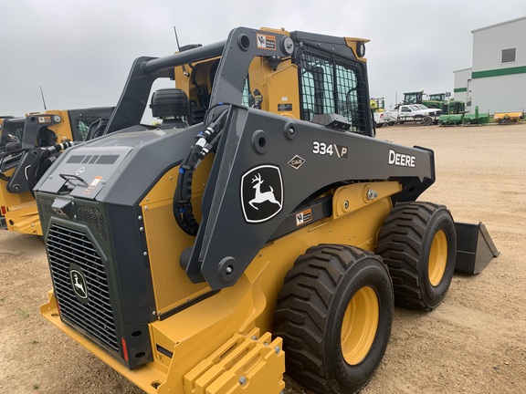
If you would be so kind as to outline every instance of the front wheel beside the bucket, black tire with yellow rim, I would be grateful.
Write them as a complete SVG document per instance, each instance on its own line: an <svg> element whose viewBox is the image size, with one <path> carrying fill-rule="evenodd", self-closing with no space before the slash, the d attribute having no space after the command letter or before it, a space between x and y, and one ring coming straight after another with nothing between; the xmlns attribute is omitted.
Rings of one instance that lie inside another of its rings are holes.
<svg viewBox="0 0 526 394"><path fill-rule="evenodd" d="M457 233L451 213L431 202L396 205L378 235L376 253L389 267L396 305L436 308L455 270Z"/></svg>

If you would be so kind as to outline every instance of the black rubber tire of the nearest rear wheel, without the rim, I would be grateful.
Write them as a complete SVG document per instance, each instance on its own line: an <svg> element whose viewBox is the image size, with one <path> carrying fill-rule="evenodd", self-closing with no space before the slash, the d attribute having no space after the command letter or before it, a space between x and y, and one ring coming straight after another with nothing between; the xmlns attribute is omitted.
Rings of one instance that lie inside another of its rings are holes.
<svg viewBox="0 0 526 394"><path fill-rule="evenodd" d="M369 260L370 264L363 263L364 260ZM347 301L336 297L342 294L342 287L349 286L349 279L363 277L363 272L380 276L381 279L376 277L376 280L383 287L380 293L384 298L378 296L376 290L380 320L369 354L358 366L349 366L342 361L342 321L338 326L335 320L342 318L351 296ZM339 305L342 303L344 305ZM286 275L274 313L274 335L283 338L287 373L304 387L323 394L359 392L384 358L391 335L393 309L391 278L378 255L341 244L310 247ZM340 311L341 317L335 317L338 315L335 311ZM335 340L331 340L330 332L334 333ZM340 363L335 359L340 359ZM354 376L360 378L348 381L349 374L342 372L347 368L354 368L357 372ZM347 381L342 374L346 374Z"/></svg>

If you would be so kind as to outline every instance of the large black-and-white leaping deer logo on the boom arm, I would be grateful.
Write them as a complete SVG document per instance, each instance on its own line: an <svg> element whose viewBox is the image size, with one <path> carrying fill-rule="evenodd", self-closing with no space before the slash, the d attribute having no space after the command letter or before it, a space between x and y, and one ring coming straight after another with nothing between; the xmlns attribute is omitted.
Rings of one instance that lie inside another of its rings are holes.
<svg viewBox="0 0 526 394"><path fill-rule="evenodd" d="M283 181L279 167L262 165L241 178L241 202L248 223L266 222L281 211Z"/></svg>

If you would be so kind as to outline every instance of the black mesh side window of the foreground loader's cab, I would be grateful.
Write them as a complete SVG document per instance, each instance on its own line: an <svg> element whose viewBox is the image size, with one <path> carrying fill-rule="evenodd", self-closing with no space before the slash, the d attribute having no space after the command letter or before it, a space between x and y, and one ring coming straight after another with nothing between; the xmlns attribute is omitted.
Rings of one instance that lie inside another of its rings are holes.
<svg viewBox="0 0 526 394"><path fill-rule="evenodd" d="M360 69L329 57L303 52L300 55L301 119L335 113L348 119L352 132L365 134L364 84Z"/></svg>

